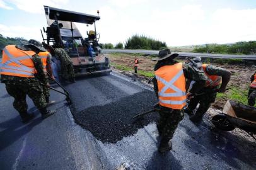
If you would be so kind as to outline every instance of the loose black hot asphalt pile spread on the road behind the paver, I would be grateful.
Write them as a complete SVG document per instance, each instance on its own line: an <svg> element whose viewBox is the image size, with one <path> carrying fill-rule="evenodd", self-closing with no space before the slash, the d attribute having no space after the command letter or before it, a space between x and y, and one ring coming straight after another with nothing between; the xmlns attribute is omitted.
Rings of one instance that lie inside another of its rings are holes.
<svg viewBox="0 0 256 170"><path fill-rule="evenodd" d="M158 118L156 113L149 113L139 121L132 121L132 117L151 110L156 102L155 94L144 90L104 106L86 108L73 115L76 122L93 133L96 139L115 143L123 137L136 133L138 128L155 122Z"/></svg>

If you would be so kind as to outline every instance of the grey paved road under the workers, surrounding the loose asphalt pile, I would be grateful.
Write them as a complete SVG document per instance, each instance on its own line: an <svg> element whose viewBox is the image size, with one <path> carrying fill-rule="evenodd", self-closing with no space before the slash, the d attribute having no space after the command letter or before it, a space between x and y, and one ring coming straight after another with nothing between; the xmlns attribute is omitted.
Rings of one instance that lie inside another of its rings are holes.
<svg viewBox="0 0 256 170"><path fill-rule="evenodd" d="M66 85L74 102L71 110L78 114L91 106L104 106L148 91L137 82L113 74ZM1 169L115 169L120 164L131 169L256 169L255 143L230 132L212 130L207 119L194 125L186 115L173 137L173 150L162 156L156 150L158 132L154 122L117 142L106 143L74 123L63 96L52 92L52 99L61 101L52 106L57 113L43 121L29 99L30 111L35 111L37 118L23 125L11 104L13 99L0 84ZM141 101L145 102L146 98Z"/></svg>

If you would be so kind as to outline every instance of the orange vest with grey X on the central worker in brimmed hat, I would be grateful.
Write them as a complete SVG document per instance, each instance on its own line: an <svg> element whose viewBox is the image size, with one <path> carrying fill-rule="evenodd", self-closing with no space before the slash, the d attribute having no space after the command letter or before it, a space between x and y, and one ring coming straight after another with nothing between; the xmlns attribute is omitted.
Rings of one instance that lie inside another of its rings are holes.
<svg viewBox="0 0 256 170"><path fill-rule="evenodd" d="M167 108L181 110L187 99L182 63L165 65L154 74L158 82L159 104Z"/></svg>

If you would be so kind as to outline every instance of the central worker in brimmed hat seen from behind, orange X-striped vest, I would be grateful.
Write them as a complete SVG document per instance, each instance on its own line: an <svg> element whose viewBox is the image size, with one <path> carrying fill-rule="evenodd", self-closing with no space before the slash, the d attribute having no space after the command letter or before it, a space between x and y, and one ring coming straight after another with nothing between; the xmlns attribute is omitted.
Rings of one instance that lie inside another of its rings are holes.
<svg viewBox="0 0 256 170"><path fill-rule="evenodd" d="M170 49L161 50L158 56L153 58L158 61L154 67L153 84L160 108L157 128L161 141L158 151L163 153L172 149L170 140L178 123L183 119L187 96L199 91L199 87L206 83L207 77L197 68L173 60L178 54L172 54ZM197 85L187 96L185 79L194 80Z"/></svg>

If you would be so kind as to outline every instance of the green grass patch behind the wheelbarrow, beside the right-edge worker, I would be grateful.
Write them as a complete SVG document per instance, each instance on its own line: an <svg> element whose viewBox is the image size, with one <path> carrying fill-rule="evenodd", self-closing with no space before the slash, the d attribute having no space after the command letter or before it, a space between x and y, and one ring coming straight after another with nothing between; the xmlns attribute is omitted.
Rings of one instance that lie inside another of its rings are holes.
<svg viewBox="0 0 256 170"><path fill-rule="evenodd" d="M230 99L247 105L247 93L248 89L231 86L226 93L217 93L217 99Z"/></svg>

